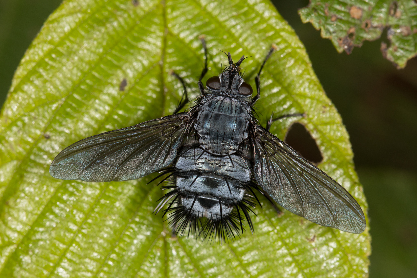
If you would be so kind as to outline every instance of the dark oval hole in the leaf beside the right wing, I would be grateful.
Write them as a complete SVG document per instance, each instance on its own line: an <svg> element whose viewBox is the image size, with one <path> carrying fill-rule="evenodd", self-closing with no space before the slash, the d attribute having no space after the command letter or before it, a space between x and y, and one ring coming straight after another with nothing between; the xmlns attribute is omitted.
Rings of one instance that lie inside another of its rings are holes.
<svg viewBox="0 0 417 278"><path fill-rule="evenodd" d="M285 143L290 145L297 153L314 165L318 165L323 160L322 153L320 153L316 141L301 123L291 125L285 136Z"/></svg>

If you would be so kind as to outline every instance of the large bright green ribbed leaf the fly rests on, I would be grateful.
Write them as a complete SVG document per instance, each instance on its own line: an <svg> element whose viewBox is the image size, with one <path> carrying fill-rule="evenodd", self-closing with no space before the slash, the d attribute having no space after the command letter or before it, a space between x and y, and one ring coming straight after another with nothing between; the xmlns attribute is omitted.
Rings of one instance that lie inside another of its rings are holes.
<svg viewBox="0 0 417 278"><path fill-rule="evenodd" d="M26 52L1 112L0 277L367 277L369 228L350 234L288 211L279 218L261 199L254 235L246 230L221 245L176 238L152 214L162 196L146 184L155 175L111 183L49 175L71 143L172 113L182 91L171 70L196 96L200 35L206 78L226 64L220 50L230 51L235 59L252 56L244 67L253 86L277 45L262 73L259 120L305 112L274 123L272 133L284 138L294 121L304 124L322 151L319 167L366 212L342 120L271 3L64 1Z"/></svg>

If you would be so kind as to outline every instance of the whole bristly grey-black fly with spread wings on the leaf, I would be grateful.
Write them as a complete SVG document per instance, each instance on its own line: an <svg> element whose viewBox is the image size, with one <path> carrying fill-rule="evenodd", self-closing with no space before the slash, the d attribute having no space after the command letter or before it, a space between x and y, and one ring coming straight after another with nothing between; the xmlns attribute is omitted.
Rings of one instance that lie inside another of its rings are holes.
<svg viewBox="0 0 417 278"><path fill-rule="evenodd" d="M204 238L236 238L244 220L253 232L250 213L259 203L255 191L314 223L349 233L362 233L364 214L356 200L322 170L258 125L252 109L259 99L262 68L256 76L257 94L244 82L242 56L219 76L211 77L187 112L184 95L173 115L129 128L109 131L70 145L53 160L50 174L65 180L105 182L134 180L161 171L168 192L155 208L165 205L173 232ZM178 113L178 114L177 114ZM160 184L159 183L159 184ZM274 200L272 200L272 199ZM260 204L260 203L259 203ZM278 209L278 208L276 208Z"/></svg>

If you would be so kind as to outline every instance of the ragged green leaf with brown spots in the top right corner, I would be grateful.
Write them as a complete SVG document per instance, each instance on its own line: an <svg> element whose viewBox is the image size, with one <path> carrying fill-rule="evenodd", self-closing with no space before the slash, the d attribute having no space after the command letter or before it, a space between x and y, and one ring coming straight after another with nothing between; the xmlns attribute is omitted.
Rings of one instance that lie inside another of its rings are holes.
<svg viewBox="0 0 417 278"><path fill-rule="evenodd" d="M390 45L381 43L382 55L404 68L417 55L417 2L415 0L311 0L299 10L304 23L321 30L342 53L351 53L364 40L376 40L385 27Z"/></svg>

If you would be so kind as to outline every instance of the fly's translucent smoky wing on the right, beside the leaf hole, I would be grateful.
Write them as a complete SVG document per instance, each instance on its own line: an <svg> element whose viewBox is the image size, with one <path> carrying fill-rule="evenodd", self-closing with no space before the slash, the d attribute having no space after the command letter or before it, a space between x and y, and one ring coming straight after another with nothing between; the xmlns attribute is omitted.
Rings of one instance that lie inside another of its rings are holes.
<svg viewBox="0 0 417 278"><path fill-rule="evenodd" d="M256 131L255 178L279 205L319 225L364 231L362 209L346 189L264 128Z"/></svg>

